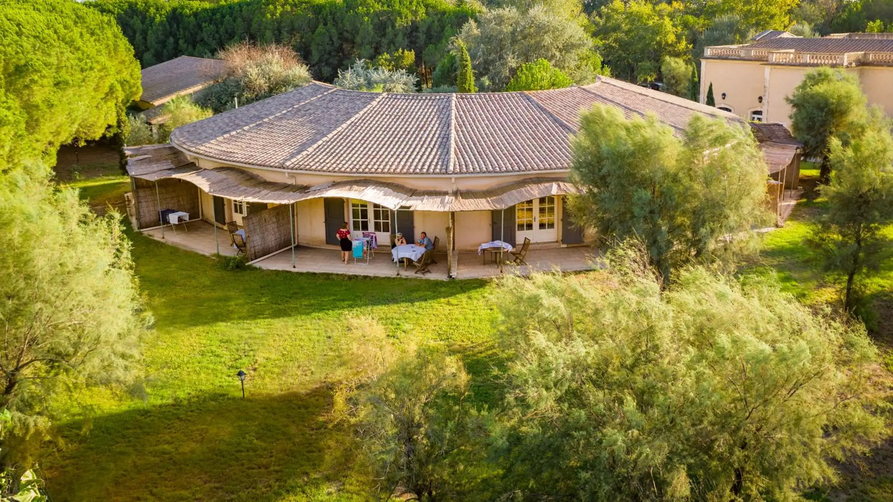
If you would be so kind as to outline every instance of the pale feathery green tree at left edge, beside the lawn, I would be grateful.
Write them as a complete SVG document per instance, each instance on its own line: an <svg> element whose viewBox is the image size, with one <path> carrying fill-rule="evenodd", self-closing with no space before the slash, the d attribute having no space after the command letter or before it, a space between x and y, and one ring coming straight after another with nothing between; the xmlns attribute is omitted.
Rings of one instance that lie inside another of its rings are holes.
<svg viewBox="0 0 893 502"><path fill-rule="evenodd" d="M130 244L73 189L15 169L0 175L0 407L4 462L27 461L60 395L129 381L141 321Z"/></svg>

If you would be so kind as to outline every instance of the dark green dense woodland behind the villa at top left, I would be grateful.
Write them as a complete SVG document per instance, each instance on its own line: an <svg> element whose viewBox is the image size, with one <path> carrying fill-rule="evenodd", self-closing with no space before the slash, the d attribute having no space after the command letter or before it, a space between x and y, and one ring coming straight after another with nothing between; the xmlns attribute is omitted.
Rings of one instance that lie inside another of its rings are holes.
<svg viewBox="0 0 893 502"><path fill-rule="evenodd" d="M244 40L292 46L317 79L331 80L356 58L415 51L433 68L447 43L480 10L444 0L108 0L143 67L179 55L210 57Z"/></svg>

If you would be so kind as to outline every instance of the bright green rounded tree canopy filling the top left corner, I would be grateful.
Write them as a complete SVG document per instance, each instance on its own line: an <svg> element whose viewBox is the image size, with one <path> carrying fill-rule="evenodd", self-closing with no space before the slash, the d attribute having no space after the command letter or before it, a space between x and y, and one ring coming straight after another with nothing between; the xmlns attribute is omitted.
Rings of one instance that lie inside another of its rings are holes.
<svg viewBox="0 0 893 502"><path fill-rule="evenodd" d="M142 93L113 18L65 0L0 2L0 162L43 156L124 121Z"/></svg>

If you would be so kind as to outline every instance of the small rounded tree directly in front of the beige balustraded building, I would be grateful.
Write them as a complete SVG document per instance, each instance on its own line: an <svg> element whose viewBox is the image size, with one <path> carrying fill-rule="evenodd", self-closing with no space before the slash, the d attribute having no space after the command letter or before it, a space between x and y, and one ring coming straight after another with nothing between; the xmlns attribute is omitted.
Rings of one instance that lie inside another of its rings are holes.
<svg viewBox="0 0 893 502"><path fill-rule="evenodd" d="M830 181L828 146L831 138L846 145L865 121L866 99L854 74L827 67L806 73L794 94L785 97L793 108L791 133L803 143L806 157L822 159L820 180Z"/></svg>

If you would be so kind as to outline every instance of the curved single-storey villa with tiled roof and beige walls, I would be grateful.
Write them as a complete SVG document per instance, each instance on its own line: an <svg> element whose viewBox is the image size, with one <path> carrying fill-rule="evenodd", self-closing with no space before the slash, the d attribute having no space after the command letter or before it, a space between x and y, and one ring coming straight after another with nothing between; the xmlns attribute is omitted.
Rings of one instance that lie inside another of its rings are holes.
<svg viewBox="0 0 893 502"><path fill-rule="evenodd" d="M384 243L397 231L451 228L457 250L524 238L577 245L588 237L563 205L577 191L567 180L571 138L580 112L596 104L628 117L655 113L677 135L698 114L747 127L712 106L604 77L482 94L371 93L313 82L180 127L170 146L130 149L133 213L140 229L158 226L168 208L235 222L250 241L262 231L253 214L270 220L280 212L272 219L285 225L285 240L249 250L251 259L288 246L289 235L304 246L338 244L342 222L354 237L374 232ZM783 182L798 145L764 142L770 172Z"/></svg>

